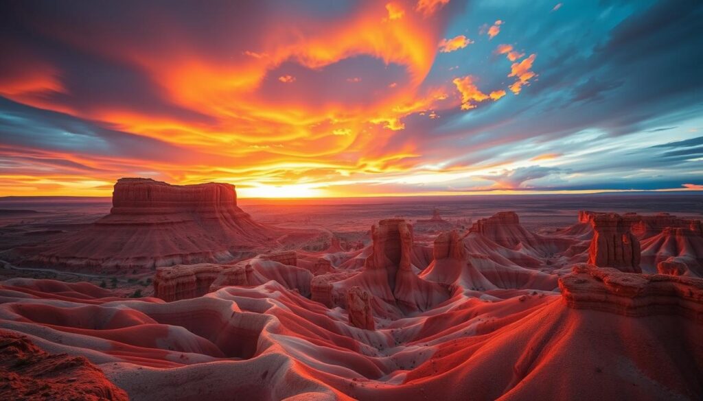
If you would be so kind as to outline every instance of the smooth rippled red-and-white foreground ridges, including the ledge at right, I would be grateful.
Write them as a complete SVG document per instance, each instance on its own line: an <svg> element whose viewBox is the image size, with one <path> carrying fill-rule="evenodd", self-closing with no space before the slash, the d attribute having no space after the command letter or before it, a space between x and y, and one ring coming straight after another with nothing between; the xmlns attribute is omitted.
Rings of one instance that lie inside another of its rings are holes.
<svg viewBox="0 0 703 401"><path fill-rule="evenodd" d="M698 400L703 280L681 280L586 268L564 296L453 296L374 331L276 282L163 303L27 280L0 286L0 325L141 400Z"/></svg>

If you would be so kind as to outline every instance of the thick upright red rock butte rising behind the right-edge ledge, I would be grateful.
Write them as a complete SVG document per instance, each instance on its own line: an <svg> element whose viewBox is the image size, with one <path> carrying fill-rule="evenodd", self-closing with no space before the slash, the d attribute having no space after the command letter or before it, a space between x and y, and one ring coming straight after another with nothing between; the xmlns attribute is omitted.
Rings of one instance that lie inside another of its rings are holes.
<svg viewBox="0 0 703 401"><path fill-rule="evenodd" d="M624 272L642 272L640 241L619 214L596 214L591 218L591 225L594 234L588 248L588 263Z"/></svg>

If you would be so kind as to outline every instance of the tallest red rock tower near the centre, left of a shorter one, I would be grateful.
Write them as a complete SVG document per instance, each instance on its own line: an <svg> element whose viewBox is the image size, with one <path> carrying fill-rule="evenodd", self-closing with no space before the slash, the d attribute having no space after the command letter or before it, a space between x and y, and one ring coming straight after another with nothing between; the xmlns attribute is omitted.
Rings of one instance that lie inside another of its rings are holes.
<svg viewBox="0 0 703 401"><path fill-rule="evenodd" d="M367 270L385 270L393 291L399 270L411 270L413 226L402 218L388 218L371 226L373 250L366 258Z"/></svg>

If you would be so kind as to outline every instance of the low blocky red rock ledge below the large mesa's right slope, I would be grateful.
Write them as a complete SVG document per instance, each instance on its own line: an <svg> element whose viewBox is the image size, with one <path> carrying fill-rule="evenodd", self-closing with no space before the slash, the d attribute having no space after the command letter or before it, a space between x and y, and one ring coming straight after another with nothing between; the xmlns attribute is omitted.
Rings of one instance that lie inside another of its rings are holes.
<svg viewBox="0 0 703 401"><path fill-rule="evenodd" d="M222 265L212 263L157 268L154 295L167 302L203 296L209 292L221 270Z"/></svg>

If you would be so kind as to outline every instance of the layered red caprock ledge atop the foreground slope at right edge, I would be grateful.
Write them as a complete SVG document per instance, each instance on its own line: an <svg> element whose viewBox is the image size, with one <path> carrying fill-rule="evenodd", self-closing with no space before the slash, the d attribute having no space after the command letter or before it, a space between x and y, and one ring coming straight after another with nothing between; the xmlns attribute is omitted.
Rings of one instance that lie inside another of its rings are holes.
<svg viewBox="0 0 703 401"><path fill-rule="evenodd" d="M703 279L640 275L579 263L559 279L570 308L625 316L681 315L703 324Z"/></svg>

